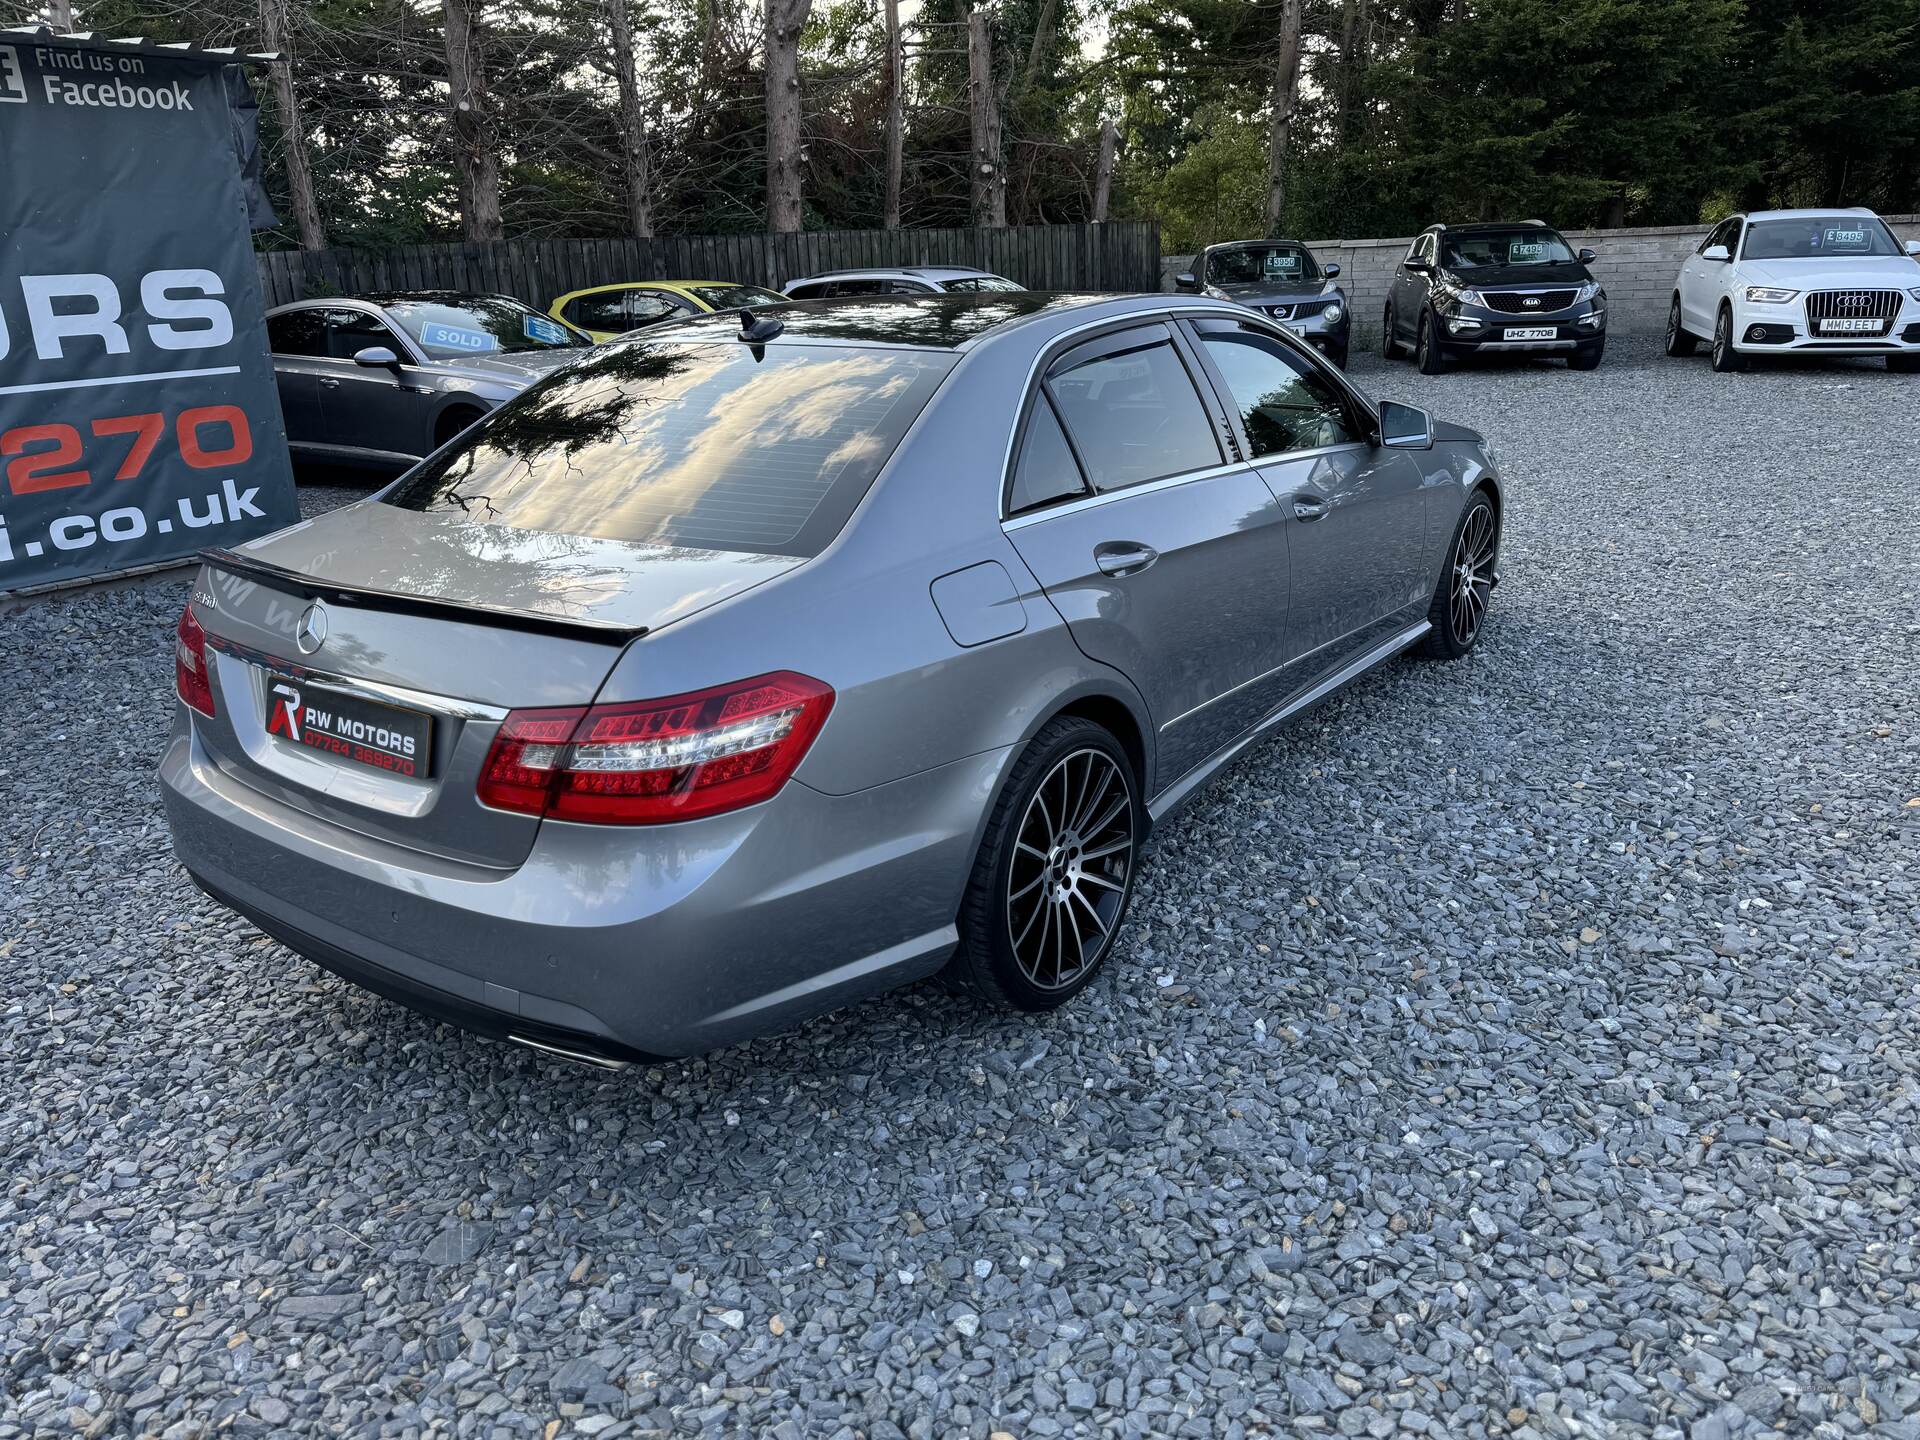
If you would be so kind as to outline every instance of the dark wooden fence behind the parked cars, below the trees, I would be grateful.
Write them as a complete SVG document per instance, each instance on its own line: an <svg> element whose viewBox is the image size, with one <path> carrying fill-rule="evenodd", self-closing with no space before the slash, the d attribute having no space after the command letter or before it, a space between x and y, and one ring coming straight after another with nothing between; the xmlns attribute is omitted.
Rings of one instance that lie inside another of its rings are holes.
<svg viewBox="0 0 1920 1440"><path fill-rule="evenodd" d="M977 265L1029 290L1133 292L1160 288L1160 225L503 240L492 246L276 250L257 261L269 305L374 290L478 290L545 309L568 290L616 280L743 280L778 290L803 275L862 265Z"/></svg>

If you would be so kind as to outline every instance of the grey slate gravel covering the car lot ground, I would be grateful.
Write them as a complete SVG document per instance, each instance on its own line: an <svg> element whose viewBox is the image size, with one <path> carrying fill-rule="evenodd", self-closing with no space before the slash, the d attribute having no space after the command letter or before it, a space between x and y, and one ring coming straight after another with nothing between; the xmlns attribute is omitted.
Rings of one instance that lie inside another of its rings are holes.
<svg viewBox="0 0 1920 1440"><path fill-rule="evenodd" d="M1920 1436L1920 382L1356 371L1498 445L1486 643L1046 1020L438 1029L175 866L184 582L0 616L0 1436Z"/></svg>

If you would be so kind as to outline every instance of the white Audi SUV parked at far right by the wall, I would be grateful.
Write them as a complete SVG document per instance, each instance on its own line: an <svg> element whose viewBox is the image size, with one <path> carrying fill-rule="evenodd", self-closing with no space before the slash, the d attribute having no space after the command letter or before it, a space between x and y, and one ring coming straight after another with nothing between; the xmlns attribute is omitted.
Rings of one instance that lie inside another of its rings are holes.
<svg viewBox="0 0 1920 1440"><path fill-rule="evenodd" d="M1713 369L1747 355L1885 355L1920 372L1920 240L1870 209L1730 215L1688 255L1667 311L1667 353L1711 336Z"/></svg>

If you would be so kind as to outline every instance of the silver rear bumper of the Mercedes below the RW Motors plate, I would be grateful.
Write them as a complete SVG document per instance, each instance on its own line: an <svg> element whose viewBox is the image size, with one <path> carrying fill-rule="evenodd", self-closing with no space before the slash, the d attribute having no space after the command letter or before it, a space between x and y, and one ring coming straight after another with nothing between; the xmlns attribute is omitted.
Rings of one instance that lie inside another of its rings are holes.
<svg viewBox="0 0 1920 1440"><path fill-rule="evenodd" d="M296 812L184 724L159 780L188 874L288 948L467 1029L618 1062L710 1050L937 970L1006 755L854 795L789 781L676 826L545 822L513 870Z"/></svg>

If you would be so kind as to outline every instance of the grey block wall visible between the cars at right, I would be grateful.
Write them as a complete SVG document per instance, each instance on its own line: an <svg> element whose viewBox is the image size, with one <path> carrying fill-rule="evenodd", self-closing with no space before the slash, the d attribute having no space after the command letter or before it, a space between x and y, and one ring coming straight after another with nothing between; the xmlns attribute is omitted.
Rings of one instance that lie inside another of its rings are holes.
<svg viewBox="0 0 1920 1440"><path fill-rule="evenodd" d="M1920 240L1920 215L1887 215L1901 240ZM1667 301L1674 290L1680 261L1707 236L1705 225L1663 225L1644 230L1565 230L1574 250L1592 246L1599 259L1590 267L1607 286L1607 328L1615 334L1657 334L1667 324ZM1354 344L1380 340L1380 313L1386 288L1400 257L1413 244L1398 240L1309 240L1321 265L1340 267L1340 284L1354 301ZM1192 265L1192 255L1160 259L1160 288L1171 290L1173 276Z"/></svg>

